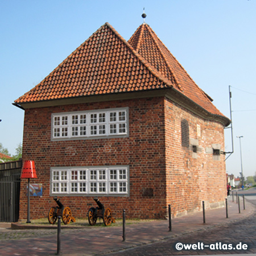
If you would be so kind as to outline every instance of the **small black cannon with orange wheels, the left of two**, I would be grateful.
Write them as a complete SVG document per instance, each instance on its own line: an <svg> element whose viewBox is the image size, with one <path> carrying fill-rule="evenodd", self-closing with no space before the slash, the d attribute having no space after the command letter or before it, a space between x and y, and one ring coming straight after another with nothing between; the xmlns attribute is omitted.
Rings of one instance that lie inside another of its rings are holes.
<svg viewBox="0 0 256 256"><path fill-rule="evenodd" d="M64 207L64 205L60 203L60 200L57 198L57 196L53 197L53 199L56 201L58 206L49 209L49 223L55 224L58 216L62 217L64 224L69 224L71 221L76 222L75 218L72 217L71 209L69 209L69 207Z"/></svg>

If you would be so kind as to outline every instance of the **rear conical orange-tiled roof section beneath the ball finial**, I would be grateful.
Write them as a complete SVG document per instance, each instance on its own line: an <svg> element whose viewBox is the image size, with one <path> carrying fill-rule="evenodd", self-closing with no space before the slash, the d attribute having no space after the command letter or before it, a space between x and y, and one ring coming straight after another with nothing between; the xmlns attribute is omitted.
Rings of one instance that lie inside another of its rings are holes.
<svg viewBox="0 0 256 256"><path fill-rule="evenodd" d="M135 31L128 43L166 79L171 80L174 88L190 98L199 106L212 114L222 115L212 104L212 100L196 85L185 69L164 46L155 32L143 23Z"/></svg>

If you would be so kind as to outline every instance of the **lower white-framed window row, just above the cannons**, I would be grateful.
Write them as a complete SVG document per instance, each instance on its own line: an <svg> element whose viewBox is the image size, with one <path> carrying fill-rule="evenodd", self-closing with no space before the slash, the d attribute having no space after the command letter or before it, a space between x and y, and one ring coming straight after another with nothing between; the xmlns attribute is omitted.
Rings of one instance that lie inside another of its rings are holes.
<svg viewBox="0 0 256 256"><path fill-rule="evenodd" d="M129 167L51 168L51 195L129 195Z"/></svg>

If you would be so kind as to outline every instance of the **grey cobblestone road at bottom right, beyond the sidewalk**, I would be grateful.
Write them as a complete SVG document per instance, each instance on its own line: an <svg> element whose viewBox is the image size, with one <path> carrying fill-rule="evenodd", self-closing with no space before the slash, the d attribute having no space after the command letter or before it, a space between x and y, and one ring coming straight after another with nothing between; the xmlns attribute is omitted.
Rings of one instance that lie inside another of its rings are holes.
<svg viewBox="0 0 256 256"><path fill-rule="evenodd" d="M221 243L220 243L221 242ZM177 243L195 244L196 250L176 250ZM203 245L202 245L203 243ZM217 243L217 244L216 244ZM238 245L238 249L243 244L247 245L247 250L226 250L228 246ZM210 250L222 247L222 250ZM202 250L204 246L204 250ZM198 249L200 248L200 249ZM148 255L205 255L205 254L256 254L256 214L246 220L238 221L236 224L223 225L218 228L212 228L201 232L195 232L179 238L170 238L167 240L152 243L150 245L139 246L134 249L119 251L105 255L114 256L148 256Z"/></svg>

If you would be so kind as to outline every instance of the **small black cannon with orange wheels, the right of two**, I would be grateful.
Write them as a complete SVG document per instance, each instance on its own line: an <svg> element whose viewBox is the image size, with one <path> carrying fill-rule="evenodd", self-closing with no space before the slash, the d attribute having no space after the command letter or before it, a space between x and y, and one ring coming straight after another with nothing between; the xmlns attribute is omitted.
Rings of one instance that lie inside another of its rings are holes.
<svg viewBox="0 0 256 256"><path fill-rule="evenodd" d="M111 222L115 223L115 219L112 217L112 212L109 208L104 207L104 205L98 200L98 197L94 197L98 207L90 208L88 212L88 221L90 225L95 225L97 218L102 218L106 226L109 226Z"/></svg>

